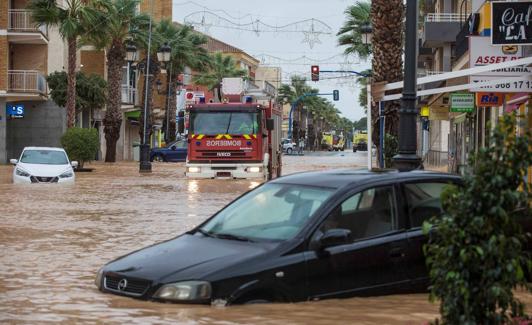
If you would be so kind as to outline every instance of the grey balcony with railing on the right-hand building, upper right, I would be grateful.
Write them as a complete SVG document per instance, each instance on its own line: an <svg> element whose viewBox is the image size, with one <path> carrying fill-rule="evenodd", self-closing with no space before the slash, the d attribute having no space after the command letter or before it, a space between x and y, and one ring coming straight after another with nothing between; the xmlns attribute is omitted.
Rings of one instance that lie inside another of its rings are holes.
<svg viewBox="0 0 532 325"><path fill-rule="evenodd" d="M423 26L423 47L443 47L445 43L454 43L460 32L460 24L467 15L457 13L431 13L425 17Z"/></svg>

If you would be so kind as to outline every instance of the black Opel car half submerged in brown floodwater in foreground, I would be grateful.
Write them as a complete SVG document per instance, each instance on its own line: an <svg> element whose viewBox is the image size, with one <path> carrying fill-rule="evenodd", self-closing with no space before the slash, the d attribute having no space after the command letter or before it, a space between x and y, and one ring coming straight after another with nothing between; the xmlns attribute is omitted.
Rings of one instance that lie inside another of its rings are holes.
<svg viewBox="0 0 532 325"><path fill-rule="evenodd" d="M182 303L425 291L421 225L458 176L337 170L281 177L195 229L105 265L103 292Z"/></svg>

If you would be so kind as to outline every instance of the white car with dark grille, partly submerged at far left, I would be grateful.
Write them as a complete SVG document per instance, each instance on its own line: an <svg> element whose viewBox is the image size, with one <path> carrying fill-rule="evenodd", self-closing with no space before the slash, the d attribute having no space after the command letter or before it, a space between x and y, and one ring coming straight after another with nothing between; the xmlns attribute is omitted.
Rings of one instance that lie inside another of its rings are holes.
<svg viewBox="0 0 532 325"><path fill-rule="evenodd" d="M62 148L26 147L20 159L9 161L13 170L13 183L73 183L76 176L73 167L77 161L68 159Z"/></svg>

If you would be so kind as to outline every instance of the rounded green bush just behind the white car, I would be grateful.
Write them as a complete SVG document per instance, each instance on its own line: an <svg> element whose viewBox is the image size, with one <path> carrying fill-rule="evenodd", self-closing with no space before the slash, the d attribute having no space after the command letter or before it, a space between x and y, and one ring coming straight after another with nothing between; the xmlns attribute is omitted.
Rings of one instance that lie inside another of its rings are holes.
<svg viewBox="0 0 532 325"><path fill-rule="evenodd" d="M96 156L100 142L96 129L70 128L61 137L61 145L71 160L79 162L82 168L85 162L89 162Z"/></svg>

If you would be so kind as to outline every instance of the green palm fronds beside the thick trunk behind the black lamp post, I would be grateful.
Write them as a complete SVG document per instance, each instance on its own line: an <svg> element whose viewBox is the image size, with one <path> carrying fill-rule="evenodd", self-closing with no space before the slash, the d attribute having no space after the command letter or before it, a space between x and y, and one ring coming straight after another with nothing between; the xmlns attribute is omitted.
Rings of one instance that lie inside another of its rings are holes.
<svg viewBox="0 0 532 325"><path fill-rule="evenodd" d="M344 11L346 21L336 34L339 36L338 45L347 46L346 55L356 54L366 59L371 54L371 46L362 42L361 27L369 25L371 4L369 1L357 2Z"/></svg>

